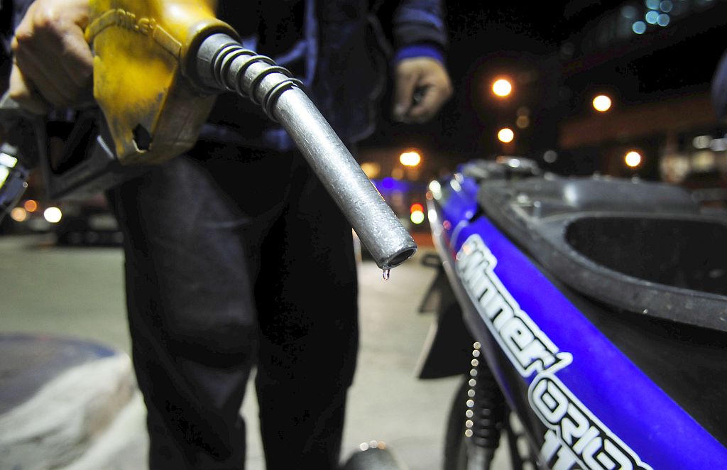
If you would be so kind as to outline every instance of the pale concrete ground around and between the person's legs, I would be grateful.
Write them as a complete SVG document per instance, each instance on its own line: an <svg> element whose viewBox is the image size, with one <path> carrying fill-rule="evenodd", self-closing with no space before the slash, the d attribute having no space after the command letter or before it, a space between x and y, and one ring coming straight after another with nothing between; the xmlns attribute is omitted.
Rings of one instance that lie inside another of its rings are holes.
<svg viewBox="0 0 727 470"><path fill-rule="evenodd" d="M361 356L350 390L345 456L375 439L386 442L411 469L441 468L444 423L457 379L414 377L431 321L416 311L434 275L419 263L426 250L393 269L388 281L374 263L359 266ZM0 332L79 338L128 353L122 266L119 249L60 248L43 236L0 237ZM262 470L252 388L242 411L250 429L248 469ZM143 416L136 397L105 439L68 468L140 470ZM116 457L108 461L112 454Z"/></svg>

